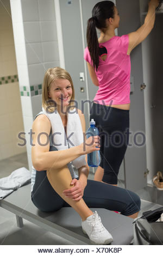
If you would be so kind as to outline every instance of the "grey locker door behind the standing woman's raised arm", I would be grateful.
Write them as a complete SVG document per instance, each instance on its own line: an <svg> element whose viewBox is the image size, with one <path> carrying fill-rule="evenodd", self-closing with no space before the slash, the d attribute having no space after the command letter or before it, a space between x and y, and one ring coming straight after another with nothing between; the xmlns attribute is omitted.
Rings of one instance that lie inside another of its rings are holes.
<svg viewBox="0 0 163 256"><path fill-rule="evenodd" d="M118 35L128 34L140 27L140 5L139 0L116 0L116 6L120 13L121 21ZM134 81L134 91L130 94L130 144L125 156L126 187L132 191L140 190L147 184L146 144L143 144L145 134L145 106L143 90L142 71L142 46L137 46L131 52L131 76ZM135 142L136 139L136 142ZM137 145L136 145L137 144Z"/></svg>

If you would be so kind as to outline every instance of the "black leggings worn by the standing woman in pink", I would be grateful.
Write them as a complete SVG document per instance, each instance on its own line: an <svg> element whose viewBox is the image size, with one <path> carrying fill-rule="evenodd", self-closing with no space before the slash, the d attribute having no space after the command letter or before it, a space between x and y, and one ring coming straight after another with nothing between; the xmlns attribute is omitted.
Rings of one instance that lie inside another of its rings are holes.
<svg viewBox="0 0 163 256"><path fill-rule="evenodd" d="M96 121L101 138L103 181L117 184L118 172L129 141L129 110L93 103L90 120Z"/></svg>

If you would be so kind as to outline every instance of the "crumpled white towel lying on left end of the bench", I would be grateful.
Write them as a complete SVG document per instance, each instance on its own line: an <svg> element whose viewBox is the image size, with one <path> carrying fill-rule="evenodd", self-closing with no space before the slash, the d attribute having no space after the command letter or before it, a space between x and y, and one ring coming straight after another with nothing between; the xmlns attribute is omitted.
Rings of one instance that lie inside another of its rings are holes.
<svg viewBox="0 0 163 256"><path fill-rule="evenodd" d="M0 179L0 200L29 181L30 172L25 167L14 170L9 176Z"/></svg>

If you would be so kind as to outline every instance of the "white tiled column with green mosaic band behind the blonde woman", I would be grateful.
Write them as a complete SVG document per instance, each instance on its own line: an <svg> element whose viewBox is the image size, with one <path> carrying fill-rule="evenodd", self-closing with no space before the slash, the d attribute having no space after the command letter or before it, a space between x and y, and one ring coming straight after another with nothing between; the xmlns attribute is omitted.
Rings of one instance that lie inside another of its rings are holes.
<svg viewBox="0 0 163 256"><path fill-rule="evenodd" d="M24 130L41 110L45 71L59 66L54 0L10 0ZM29 136L27 153L32 167Z"/></svg>

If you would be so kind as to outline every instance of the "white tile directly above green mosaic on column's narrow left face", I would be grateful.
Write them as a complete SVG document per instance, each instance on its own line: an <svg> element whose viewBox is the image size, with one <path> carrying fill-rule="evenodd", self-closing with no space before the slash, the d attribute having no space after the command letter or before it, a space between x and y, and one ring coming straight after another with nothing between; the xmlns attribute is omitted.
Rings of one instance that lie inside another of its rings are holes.
<svg viewBox="0 0 163 256"><path fill-rule="evenodd" d="M20 86L29 87L29 76L27 65L17 65L18 81Z"/></svg>

